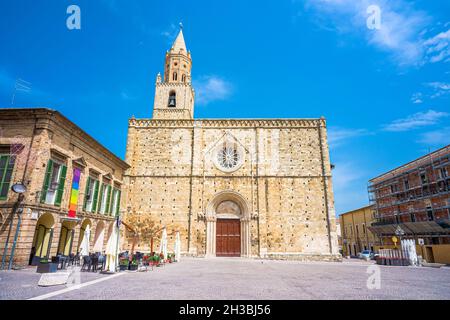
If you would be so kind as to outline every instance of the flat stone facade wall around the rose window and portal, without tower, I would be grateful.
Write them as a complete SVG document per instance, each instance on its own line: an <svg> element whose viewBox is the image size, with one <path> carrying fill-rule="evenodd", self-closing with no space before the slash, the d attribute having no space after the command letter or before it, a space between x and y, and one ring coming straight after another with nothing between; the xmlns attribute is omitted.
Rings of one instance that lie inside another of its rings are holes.
<svg viewBox="0 0 450 320"><path fill-rule="evenodd" d="M213 150L225 140L242 146L234 172L214 163ZM205 254L207 206L232 191L252 216L251 256L337 256L322 119L131 119L126 161L127 214L150 213L169 232L179 230L185 254Z"/></svg>

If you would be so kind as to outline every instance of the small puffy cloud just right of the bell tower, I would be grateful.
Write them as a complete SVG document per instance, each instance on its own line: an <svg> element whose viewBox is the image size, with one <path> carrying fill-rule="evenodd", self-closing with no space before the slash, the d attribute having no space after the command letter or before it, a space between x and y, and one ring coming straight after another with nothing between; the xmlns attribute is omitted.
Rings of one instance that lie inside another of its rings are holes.
<svg viewBox="0 0 450 320"><path fill-rule="evenodd" d="M194 80L196 102L207 105L217 100L225 100L232 93L232 85L218 76L202 76Z"/></svg>

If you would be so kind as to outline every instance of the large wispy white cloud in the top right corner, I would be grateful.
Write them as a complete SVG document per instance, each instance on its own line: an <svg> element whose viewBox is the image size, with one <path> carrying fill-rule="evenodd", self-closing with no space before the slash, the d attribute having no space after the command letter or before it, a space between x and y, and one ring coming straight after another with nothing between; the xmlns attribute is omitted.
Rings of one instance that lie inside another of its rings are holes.
<svg viewBox="0 0 450 320"><path fill-rule="evenodd" d="M370 5L377 5L381 10L379 30L369 30L366 26ZM405 0L307 0L305 7L318 13L320 25L325 21L337 32L365 37L371 45L389 52L399 65L450 61L450 30L427 35L431 17ZM447 28L448 24L437 27ZM330 26L324 28L329 30Z"/></svg>

